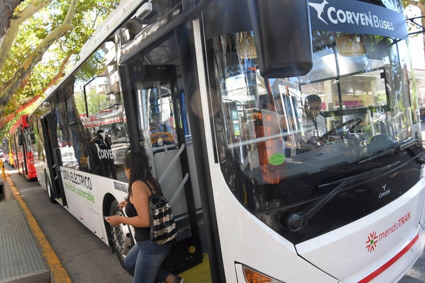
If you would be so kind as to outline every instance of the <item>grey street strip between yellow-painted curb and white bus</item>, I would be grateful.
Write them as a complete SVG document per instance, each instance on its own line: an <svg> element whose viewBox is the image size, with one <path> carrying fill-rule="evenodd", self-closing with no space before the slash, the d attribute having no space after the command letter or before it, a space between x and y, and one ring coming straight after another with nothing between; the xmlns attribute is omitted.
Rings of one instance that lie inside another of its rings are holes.
<svg viewBox="0 0 425 283"><path fill-rule="evenodd" d="M73 282L132 282L111 249L60 204L50 203L38 182L10 177Z"/></svg>

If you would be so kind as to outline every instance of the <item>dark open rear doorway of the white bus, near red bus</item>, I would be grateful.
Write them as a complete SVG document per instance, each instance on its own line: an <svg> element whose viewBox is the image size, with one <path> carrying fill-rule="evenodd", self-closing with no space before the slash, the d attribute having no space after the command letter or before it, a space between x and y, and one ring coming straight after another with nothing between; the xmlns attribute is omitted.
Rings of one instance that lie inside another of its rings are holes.
<svg viewBox="0 0 425 283"><path fill-rule="evenodd" d="M45 140L46 161L48 167L49 180L51 184L51 193L63 206L67 205L65 193L63 191L62 179L60 177L60 168L62 164L60 149L57 143L56 128L54 126L54 116L48 113L41 118L41 129Z"/></svg>

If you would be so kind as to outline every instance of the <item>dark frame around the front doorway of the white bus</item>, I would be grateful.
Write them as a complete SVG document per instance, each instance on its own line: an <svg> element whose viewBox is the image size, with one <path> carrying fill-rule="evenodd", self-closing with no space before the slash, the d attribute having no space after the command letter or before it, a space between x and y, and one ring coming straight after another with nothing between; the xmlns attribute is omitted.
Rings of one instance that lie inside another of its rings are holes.
<svg viewBox="0 0 425 283"><path fill-rule="evenodd" d="M210 1L200 0L200 2L194 3L192 0L183 0L182 2L185 7L185 11L171 22L159 28L153 34L150 34L148 38L142 40L138 46L135 47L134 51L121 54L119 48L117 48L117 52L119 53L118 72L121 81L124 108L133 109L133 111L126 111L128 138L130 140L131 150L140 150L138 120L135 111L136 101L133 98L131 80L129 79L131 77L130 74L132 70L128 67L128 62L135 57L134 54L153 49L157 44L160 44L163 41L164 34L167 34L168 32L175 32L178 46L177 52L183 75L185 101L188 101L186 105L190 105L190 101L197 99L196 95L198 95L199 92L199 77L194 46L195 35L193 23L196 22L196 20L202 21L201 10L207 6ZM201 37L202 38L197 38L196 40L203 43L204 39L202 28ZM202 44L202 49L204 48L205 47ZM200 61L205 64L205 58L202 58ZM206 80L208 81L208 79ZM199 118L199 113L195 113L192 107L188 106L186 107L186 110L189 117L191 132L199 132L199 134L192 135L192 146L195 155L211 279L212 282L224 282L224 266L215 214L211 174L208 166L208 152L206 149L204 124L203 120ZM217 153L213 152L213 154L214 157L217 158Z"/></svg>

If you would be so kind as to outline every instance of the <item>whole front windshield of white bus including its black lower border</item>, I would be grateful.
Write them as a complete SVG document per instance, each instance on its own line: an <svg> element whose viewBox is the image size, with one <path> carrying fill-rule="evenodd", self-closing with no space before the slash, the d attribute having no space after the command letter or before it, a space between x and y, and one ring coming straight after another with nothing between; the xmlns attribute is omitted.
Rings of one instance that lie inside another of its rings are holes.
<svg viewBox="0 0 425 283"><path fill-rule="evenodd" d="M318 221L298 234L281 224L332 188L318 190L319 184L377 166L361 160L412 136L417 115L410 102L406 41L313 30L311 71L272 79L260 75L251 31L215 36L208 44L220 105L214 122L221 170L235 196L257 217L299 241L396 197L355 208L361 212L341 221L324 211L333 224Z"/></svg>

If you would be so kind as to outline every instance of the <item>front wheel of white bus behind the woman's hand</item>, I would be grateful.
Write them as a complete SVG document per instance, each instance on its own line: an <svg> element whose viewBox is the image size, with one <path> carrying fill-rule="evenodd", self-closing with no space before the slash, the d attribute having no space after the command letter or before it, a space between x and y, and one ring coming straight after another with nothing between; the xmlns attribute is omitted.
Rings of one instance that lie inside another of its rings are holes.
<svg viewBox="0 0 425 283"><path fill-rule="evenodd" d="M118 201L116 201L116 199L110 204L109 215L124 216L122 211L118 209ZM129 226L121 223L117 226L109 225L109 227L112 235L113 249L118 257L119 263L125 268L125 255L134 244Z"/></svg>

